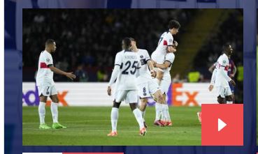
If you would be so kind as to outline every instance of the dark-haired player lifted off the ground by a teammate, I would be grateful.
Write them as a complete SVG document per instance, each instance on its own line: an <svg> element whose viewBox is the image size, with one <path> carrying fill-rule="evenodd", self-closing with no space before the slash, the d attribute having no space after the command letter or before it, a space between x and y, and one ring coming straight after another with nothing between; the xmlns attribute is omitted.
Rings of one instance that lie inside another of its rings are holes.
<svg viewBox="0 0 258 154"><path fill-rule="evenodd" d="M151 58L153 61L156 61L158 64L164 63L164 57L166 56L166 52L176 52L176 49L173 48L173 35L178 33L180 28L180 24L176 20L171 20L169 22L169 31L166 31L159 38L159 43L155 52L152 53ZM157 83L160 84L162 81L162 77L164 75L163 70L157 69Z"/></svg>

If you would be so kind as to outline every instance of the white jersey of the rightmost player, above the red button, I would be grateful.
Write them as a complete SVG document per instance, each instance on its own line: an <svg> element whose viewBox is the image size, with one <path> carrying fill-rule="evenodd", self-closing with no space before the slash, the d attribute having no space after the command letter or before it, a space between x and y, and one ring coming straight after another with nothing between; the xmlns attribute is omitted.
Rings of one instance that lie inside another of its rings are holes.
<svg viewBox="0 0 258 154"><path fill-rule="evenodd" d="M222 73L219 71L219 69L223 67L224 72L227 75L227 72L229 70L229 57L226 54L222 54L219 59L217 59L216 63L216 76L215 76L215 86L222 86L222 87L229 87L229 81Z"/></svg>

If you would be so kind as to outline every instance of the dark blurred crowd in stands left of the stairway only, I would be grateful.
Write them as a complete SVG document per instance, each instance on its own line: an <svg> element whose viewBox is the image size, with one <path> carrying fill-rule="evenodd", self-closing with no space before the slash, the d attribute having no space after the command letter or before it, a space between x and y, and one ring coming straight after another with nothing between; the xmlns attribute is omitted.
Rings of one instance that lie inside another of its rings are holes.
<svg viewBox="0 0 258 154"><path fill-rule="evenodd" d="M106 82L112 72L115 54L125 36L134 37L150 54L169 20L187 24L194 9L126 10L28 10L23 13L24 81L31 81L45 40L56 40L55 66L73 71L78 82ZM155 19L155 20L154 20ZM184 28L180 29L184 33ZM33 72L34 70L34 72ZM55 81L66 81L55 75Z"/></svg>

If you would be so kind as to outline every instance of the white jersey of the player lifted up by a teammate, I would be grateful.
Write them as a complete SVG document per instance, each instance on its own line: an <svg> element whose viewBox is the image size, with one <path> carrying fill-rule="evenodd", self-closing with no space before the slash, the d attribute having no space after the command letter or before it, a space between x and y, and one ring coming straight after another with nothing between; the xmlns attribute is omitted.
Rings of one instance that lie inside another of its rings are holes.
<svg viewBox="0 0 258 154"><path fill-rule="evenodd" d="M166 54L166 48L168 46L173 45L173 36L169 31L166 31L160 36L159 38L159 43L155 51L159 52L159 54Z"/></svg>

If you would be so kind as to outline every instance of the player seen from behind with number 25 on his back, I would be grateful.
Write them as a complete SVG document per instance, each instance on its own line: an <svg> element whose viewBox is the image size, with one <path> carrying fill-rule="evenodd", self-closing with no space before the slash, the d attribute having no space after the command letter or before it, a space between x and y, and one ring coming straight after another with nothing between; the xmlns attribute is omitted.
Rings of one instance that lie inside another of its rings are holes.
<svg viewBox="0 0 258 154"><path fill-rule="evenodd" d="M111 85L115 82L115 99L113 101L113 108L111 110L111 125L112 131L108 136L117 136L117 119L118 109L121 101L125 100L129 103L131 111L133 111L136 121L140 128L140 135L146 134L146 129L143 124L143 116L138 104L138 91L136 86L136 75L138 76L138 68L140 68L140 61L138 55L130 50L130 38L122 40L122 51L115 56L115 67L112 72L110 82L108 83L108 95L111 95Z"/></svg>

